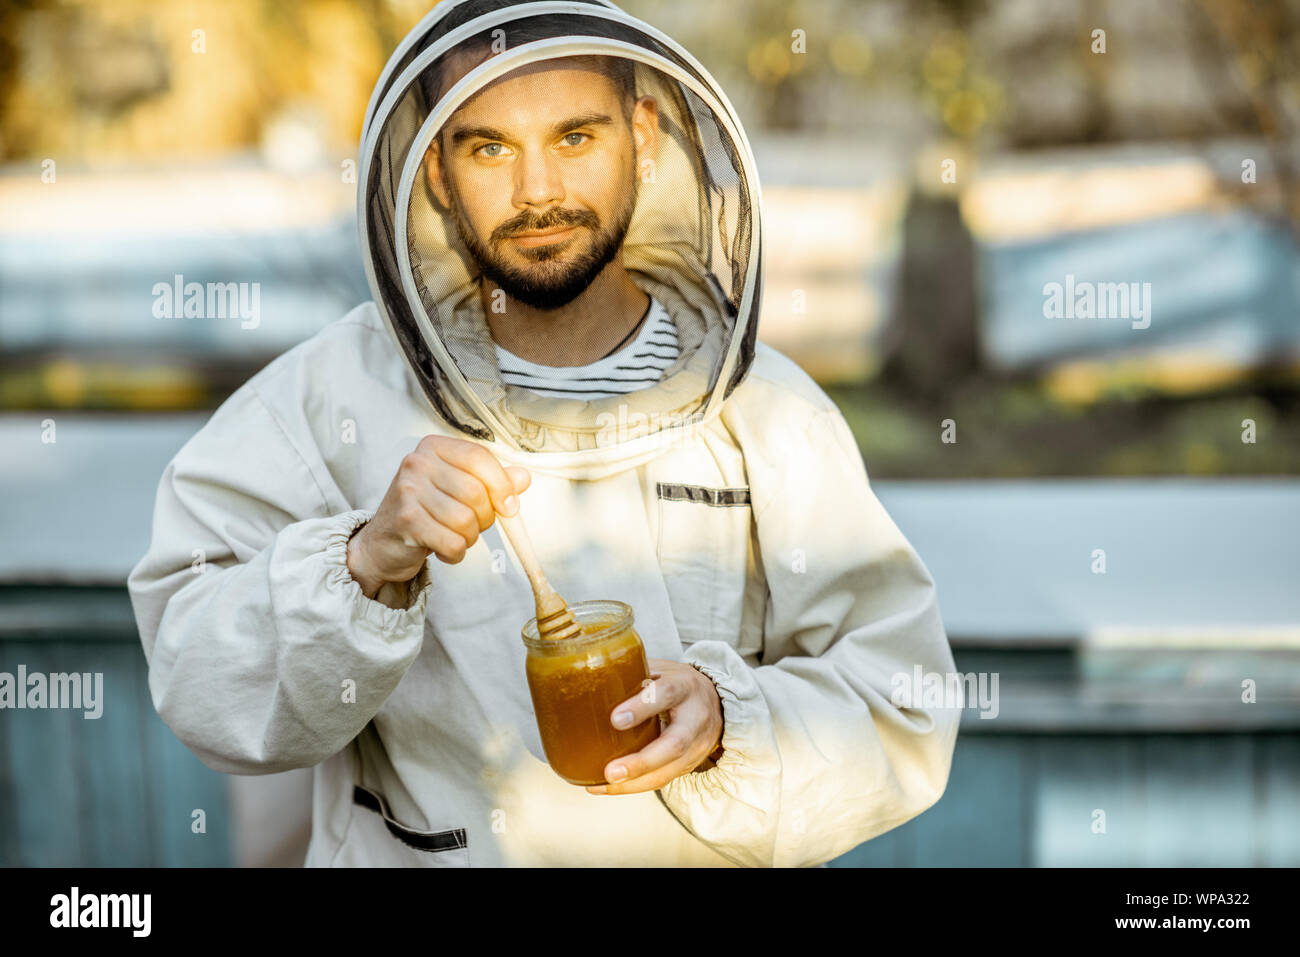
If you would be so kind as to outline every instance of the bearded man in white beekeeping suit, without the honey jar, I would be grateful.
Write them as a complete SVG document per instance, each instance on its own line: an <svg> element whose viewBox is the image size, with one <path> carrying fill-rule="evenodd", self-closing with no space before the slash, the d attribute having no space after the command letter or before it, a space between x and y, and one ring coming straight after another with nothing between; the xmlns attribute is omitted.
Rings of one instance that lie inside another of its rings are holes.
<svg viewBox="0 0 1300 957"><path fill-rule="evenodd" d="M932 805L958 713L890 688L953 671L933 585L754 343L757 182L707 75L612 8L469 0L363 140L376 302L164 475L130 588L168 724L224 771L316 766L309 865L812 865ZM647 649L610 720L666 727L606 785L545 763L520 511Z"/></svg>

